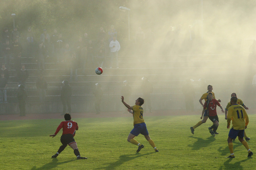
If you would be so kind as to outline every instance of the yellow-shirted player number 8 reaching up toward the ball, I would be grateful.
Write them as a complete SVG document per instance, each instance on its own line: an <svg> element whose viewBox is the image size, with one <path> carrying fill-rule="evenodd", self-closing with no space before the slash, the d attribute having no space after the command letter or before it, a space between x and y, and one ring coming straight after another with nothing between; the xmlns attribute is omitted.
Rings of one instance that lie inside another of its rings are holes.
<svg viewBox="0 0 256 170"><path fill-rule="evenodd" d="M140 152L140 150L142 148L144 148L144 145L140 144L139 142L137 142L133 138L135 138L136 136L138 136L141 133L142 135L144 135L144 137L149 142L149 144L154 148L154 150L156 152L159 152L158 149L156 148L156 145L155 145L154 141L152 141L152 139L150 139L150 137L149 137L147 126L146 126L145 121L143 119L143 107L141 105L143 105L144 99L139 97L137 100L135 100L135 105L134 106L130 106L127 103L125 103L123 96L121 96L121 99L122 99L122 103L125 105L125 107L128 108L128 111L133 114L133 126L134 126L134 128L132 129L132 131L128 135L127 141L134 144L134 145L139 146L138 149L137 149L137 152Z"/></svg>

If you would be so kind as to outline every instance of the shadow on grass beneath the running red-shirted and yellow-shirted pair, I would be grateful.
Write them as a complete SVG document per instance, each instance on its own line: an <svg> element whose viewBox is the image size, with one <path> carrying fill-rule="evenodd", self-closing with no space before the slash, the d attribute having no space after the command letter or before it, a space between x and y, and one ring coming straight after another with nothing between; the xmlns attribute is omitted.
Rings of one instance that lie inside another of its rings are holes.
<svg viewBox="0 0 256 170"><path fill-rule="evenodd" d="M207 139L202 139L201 137L194 137L194 136L189 136L192 138L197 139L193 144L189 144L187 146L191 147L192 150L199 150L200 148L206 148L207 146L210 145L210 143L214 142L216 139L215 137L208 137Z"/></svg>

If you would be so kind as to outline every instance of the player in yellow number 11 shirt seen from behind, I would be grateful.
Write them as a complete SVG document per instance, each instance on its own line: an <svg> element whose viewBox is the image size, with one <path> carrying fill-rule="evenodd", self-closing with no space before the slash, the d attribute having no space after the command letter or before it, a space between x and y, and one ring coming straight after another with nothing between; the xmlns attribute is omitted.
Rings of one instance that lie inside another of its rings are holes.
<svg viewBox="0 0 256 170"><path fill-rule="evenodd" d="M241 105L236 104L236 102L237 102L237 97L232 96L230 99L230 104L232 106L228 108L228 118L227 118L228 129L230 128L230 122L232 120L232 128L228 133L228 148L230 150L230 156L226 158L235 158L232 139L236 139L237 136L238 136L238 140L247 149L248 157L253 155L253 152L249 148L247 142L243 139L244 129L247 128L247 125L249 123L249 118L245 109Z"/></svg>

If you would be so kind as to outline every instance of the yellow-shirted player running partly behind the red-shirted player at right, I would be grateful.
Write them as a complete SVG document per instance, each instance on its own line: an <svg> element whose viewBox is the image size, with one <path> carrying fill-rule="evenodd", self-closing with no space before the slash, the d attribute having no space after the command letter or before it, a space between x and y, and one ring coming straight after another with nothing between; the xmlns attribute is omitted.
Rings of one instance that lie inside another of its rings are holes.
<svg viewBox="0 0 256 170"><path fill-rule="evenodd" d="M203 99L205 99L205 102L208 100L208 93L212 93L212 99L215 99L215 95L214 95L214 93L212 92L212 85L208 85L207 86L207 90L208 90L208 92L206 92L206 93L204 93L203 95L202 95L202 97L199 99L199 103L204 107L204 104L203 104L203 102L202 102L202 100ZM221 100L220 99L218 99L218 102L221 102ZM201 116L201 118L200 119L202 119L203 118L203 120L201 120L201 121L199 121L195 126L192 126L192 127L190 127L190 130L191 130L191 133L192 134L194 134L194 131L195 131L195 128L197 128L198 126L200 126L201 124L203 124L203 123L205 123L206 121L207 121L207 119L208 119L208 110L207 109L203 109L203 111L202 111L202 116Z"/></svg>

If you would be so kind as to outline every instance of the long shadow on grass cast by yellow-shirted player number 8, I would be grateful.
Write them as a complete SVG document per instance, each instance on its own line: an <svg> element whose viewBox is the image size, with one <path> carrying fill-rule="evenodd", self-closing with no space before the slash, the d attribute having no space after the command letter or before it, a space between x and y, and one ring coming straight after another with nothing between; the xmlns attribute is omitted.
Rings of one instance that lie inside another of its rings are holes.
<svg viewBox="0 0 256 170"><path fill-rule="evenodd" d="M100 170L101 169L106 169L106 170L115 169L116 167L122 165L125 162L128 162L130 160L133 160L133 159L136 159L136 158L139 158L139 157L142 157L142 156L146 156L146 155L149 155L149 154L152 154L152 153L155 153L155 152L151 152L151 153L147 153L147 154L135 153L135 154L128 154L128 155L120 155L119 159L117 161L112 162L112 163L105 163L105 165L109 164L107 167L100 167L100 168L96 168L96 169L100 169Z"/></svg>

